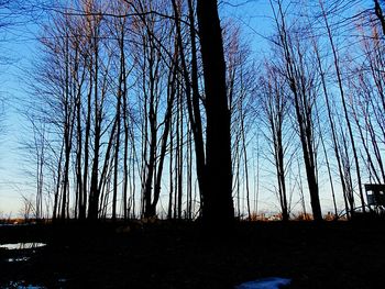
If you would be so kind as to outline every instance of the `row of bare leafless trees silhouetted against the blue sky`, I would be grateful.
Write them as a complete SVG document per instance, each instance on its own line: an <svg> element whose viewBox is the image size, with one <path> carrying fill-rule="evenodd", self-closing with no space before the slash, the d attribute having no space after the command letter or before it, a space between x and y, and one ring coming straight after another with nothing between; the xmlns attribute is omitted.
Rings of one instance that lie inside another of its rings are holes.
<svg viewBox="0 0 385 289"><path fill-rule="evenodd" d="M24 113L36 216L252 220L261 164L284 221L308 199L322 220L329 191L336 219L340 199L365 212L363 184L385 181L385 25L360 4L270 1L263 59L215 0L50 10Z"/></svg>

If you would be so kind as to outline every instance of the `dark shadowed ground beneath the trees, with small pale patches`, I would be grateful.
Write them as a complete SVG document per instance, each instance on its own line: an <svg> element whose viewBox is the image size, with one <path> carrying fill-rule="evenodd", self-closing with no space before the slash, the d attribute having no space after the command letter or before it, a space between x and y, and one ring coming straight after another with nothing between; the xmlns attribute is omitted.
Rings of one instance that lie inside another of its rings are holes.
<svg viewBox="0 0 385 289"><path fill-rule="evenodd" d="M231 237L204 242L194 223L0 227L0 288L233 288L265 277L289 288L385 288L384 222L240 223ZM229 232L230 233L230 232ZM7 262L30 256L26 262ZM8 286L8 287L7 287ZM19 287L20 288L20 287Z"/></svg>

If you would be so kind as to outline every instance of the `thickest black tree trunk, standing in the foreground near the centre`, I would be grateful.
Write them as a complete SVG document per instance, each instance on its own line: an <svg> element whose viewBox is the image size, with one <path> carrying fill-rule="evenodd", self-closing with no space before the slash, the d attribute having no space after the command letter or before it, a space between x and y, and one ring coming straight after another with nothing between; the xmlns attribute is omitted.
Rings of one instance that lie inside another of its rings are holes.
<svg viewBox="0 0 385 289"><path fill-rule="evenodd" d="M230 111L226 91L223 42L216 0L198 0L197 15L204 63L207 130L206 188L202 220L208 229L233 222Z"/></svg>

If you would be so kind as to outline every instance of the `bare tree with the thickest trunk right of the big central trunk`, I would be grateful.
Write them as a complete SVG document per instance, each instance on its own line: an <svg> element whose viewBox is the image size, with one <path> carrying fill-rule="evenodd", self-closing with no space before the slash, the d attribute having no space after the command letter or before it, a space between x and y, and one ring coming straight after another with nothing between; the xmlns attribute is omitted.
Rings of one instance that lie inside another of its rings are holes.
<svg viewBox="0 0 385 289"><path fill-rule="evenodd" d="M312 67L311 56L306 49L299 34L287 29L282 1L277 1L277 9L272 3L274 19L277 26L277 46L282 49L284 59L283 73L293 93L296 111L298 134L302 147L302 155L310 192L314 219L322 220L317 177L317 147L315 142L315 101L317 97L317 70Z"/></svg>

